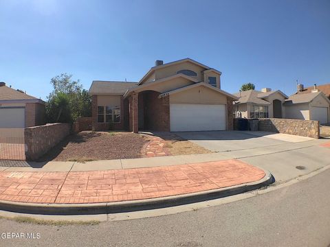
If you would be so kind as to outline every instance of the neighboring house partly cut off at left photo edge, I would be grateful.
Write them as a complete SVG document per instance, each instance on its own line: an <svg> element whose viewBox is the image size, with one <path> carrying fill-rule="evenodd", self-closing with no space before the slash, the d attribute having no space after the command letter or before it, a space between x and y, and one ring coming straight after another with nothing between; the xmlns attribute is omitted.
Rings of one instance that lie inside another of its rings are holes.
<svg viewBox="0 0 330 247"><path fill-rule="evenodd" d="M45 102L0 82L0 128L25 128L45 124Z"/></svg>

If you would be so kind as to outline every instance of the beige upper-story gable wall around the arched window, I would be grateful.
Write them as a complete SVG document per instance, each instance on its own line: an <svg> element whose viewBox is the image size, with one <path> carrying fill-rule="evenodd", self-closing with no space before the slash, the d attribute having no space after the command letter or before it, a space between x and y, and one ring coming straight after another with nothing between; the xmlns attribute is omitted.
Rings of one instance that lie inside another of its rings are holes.
<svg viewBox="0 0 330 247"><path fill-rule="evenodd" d="M197 73L197 76L193 77L199 81L202 81L202 74L201 71L205 70L203 67L200 67L197 64L193 64L192 62L181 62L179 64L173 64L168 67L164 67L162 69L157 69L155 71L155 79L159 80L162 78L166 78L170 75L176 75L177 71L180 71L182 69L189 69L191 71L195 71Z"/></svg>

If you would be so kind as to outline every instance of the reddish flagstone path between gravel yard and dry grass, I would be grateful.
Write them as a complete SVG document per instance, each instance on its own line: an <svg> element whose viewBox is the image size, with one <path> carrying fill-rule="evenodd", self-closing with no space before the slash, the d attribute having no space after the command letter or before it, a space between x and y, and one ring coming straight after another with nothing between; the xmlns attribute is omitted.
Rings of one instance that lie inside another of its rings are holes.
<svg viewBox="0 0 330 247"><path fill-rule="evenodd" d="M144 144L142 148L142 156L155 157L155 156L168 156L170 152L166 148L166 141L160 137L149 137L150 141Z"/></svg>

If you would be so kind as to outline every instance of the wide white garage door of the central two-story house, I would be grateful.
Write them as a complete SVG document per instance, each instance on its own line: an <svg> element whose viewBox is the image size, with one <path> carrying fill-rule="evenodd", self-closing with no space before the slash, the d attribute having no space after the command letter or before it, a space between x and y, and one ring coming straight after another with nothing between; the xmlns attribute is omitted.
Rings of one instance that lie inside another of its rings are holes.
<svg viewBox="0 0 330 247"><path fill-rule="evenodd" d="M170 131L225 130L225 105L170 104Z"/></svg>

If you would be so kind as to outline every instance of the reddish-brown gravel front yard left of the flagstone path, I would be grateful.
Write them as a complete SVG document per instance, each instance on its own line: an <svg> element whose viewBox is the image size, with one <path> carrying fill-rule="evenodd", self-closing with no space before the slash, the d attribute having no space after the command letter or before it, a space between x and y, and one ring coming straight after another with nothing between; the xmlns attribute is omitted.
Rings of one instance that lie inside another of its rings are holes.
<svg viewBox="0 0 330 247"><path fill-rule="evenodd" d="M86 161L140 158L148 139L131 132L91 132L72 134L39 161Z"/></svg>

